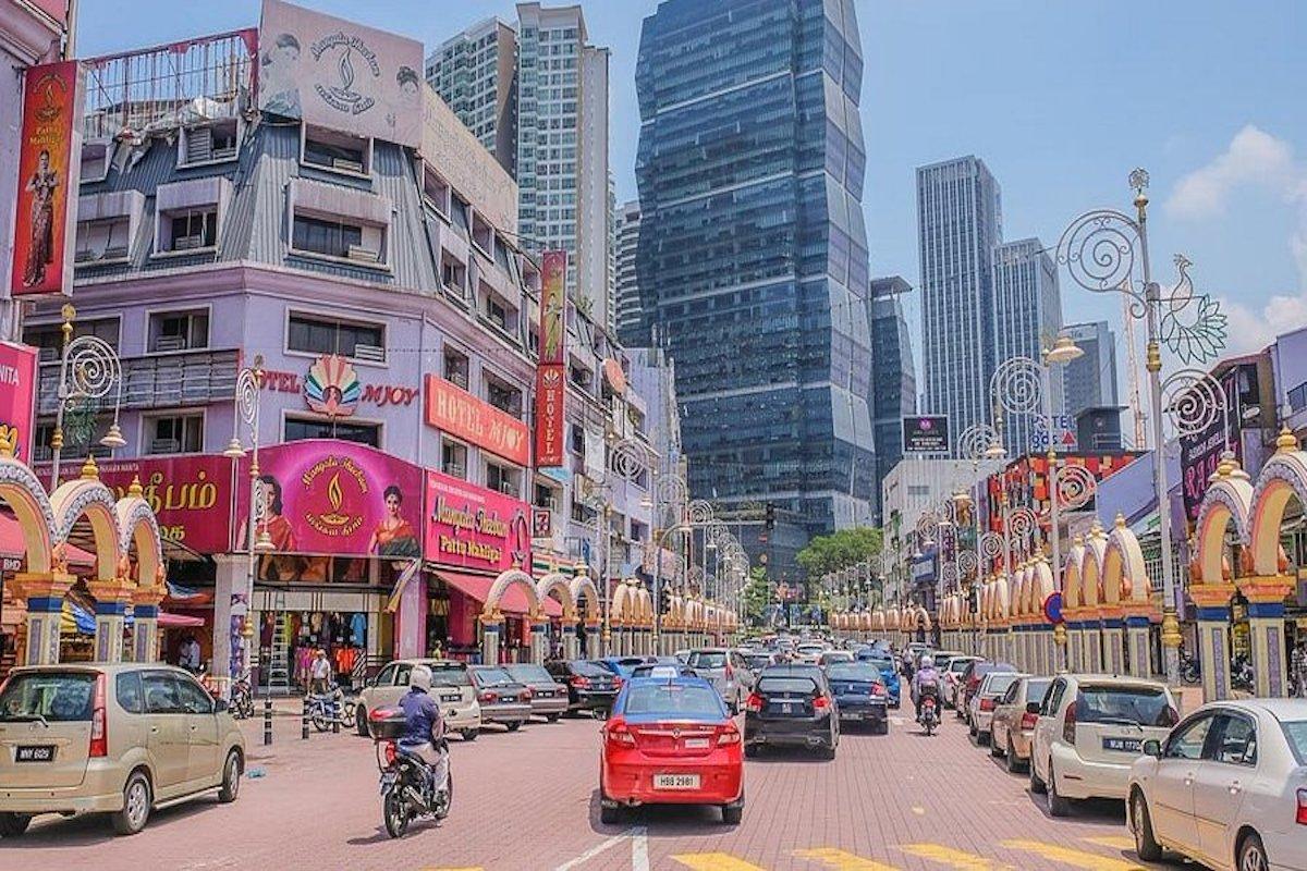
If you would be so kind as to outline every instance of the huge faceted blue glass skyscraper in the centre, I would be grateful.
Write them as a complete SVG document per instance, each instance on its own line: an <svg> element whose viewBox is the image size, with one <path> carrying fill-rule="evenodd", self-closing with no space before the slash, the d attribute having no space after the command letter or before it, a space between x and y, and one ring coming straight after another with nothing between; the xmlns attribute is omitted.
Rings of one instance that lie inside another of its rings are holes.
<svg viewBox="0 0 1307 871"><path fill-rule="evenodd" d="M640 33L637 269L690 490L809 534L872 516L861 80L851 0L665 0Z"/></svg>

